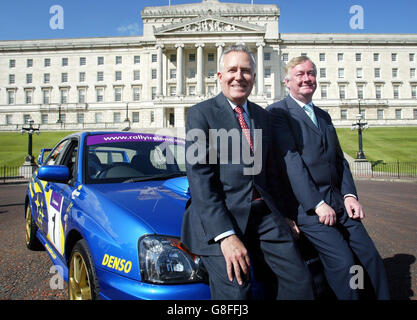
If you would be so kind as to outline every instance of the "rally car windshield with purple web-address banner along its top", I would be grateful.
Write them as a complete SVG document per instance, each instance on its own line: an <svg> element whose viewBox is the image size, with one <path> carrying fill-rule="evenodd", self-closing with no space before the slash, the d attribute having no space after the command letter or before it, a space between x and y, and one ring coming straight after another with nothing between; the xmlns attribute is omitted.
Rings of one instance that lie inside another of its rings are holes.
<svg viewBox="0 0 417 320"><path fill-rule="evenodd" d="M108 133L86 139L86 183L127 183L185 175L182 139L140 133Z"/></svg>

